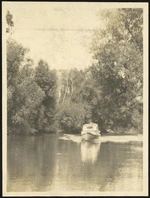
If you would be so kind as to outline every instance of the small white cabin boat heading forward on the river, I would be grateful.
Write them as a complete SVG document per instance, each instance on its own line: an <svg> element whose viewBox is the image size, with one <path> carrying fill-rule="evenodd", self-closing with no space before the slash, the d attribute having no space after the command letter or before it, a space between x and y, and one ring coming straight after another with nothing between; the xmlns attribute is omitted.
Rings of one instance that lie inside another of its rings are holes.
<svg viewBox="0 0 150 198"><path fill-rule="evenodd" d="M99 139L100 131L98 129L98 124L91 122L90 124L84 124L81 131L82 140L91 141Z"/></svg>

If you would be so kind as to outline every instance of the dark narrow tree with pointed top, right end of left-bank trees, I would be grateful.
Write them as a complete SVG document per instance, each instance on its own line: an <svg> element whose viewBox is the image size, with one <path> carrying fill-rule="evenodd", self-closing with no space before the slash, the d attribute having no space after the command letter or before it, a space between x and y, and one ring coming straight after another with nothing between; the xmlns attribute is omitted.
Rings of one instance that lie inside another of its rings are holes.
<svg viewBox="0 0 150 198"><path fill-rule="evenodd" d="M39 126L41 130L48 131L54 122L57 94L56 71L50 70L48 64L40 60L35 68L35 82L45 94L39 109Z"/></svg>

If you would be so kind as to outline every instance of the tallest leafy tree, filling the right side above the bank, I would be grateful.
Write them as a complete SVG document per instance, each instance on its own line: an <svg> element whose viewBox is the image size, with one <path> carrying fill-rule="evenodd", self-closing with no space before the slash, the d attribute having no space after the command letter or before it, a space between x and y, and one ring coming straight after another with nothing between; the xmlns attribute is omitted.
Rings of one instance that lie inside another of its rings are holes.
<svg viewBox="0 0 150 198"><path fill-rule="evenodd" d="M101 13L105 27L96 32L91 67L101 99L95 115L104 128L142 130L143 37L142 9L113 9ZM135 123L134 112L139 119Z"/></svg>

